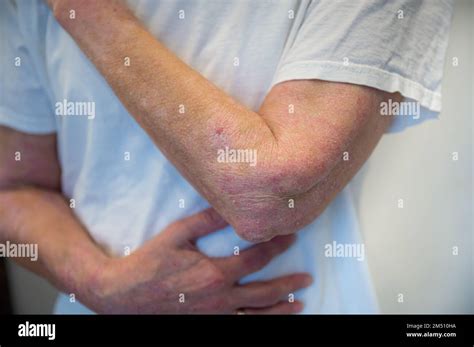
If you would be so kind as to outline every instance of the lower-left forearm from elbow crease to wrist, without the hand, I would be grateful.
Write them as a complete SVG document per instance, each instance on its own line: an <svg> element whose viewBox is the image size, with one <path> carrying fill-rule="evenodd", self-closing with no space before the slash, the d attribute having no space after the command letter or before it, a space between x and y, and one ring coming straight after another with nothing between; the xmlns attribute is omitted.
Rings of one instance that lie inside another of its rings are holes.
<svg viewBox="0 0 474 347"><path fill-rule="evenodd" d="M90 296L106 256L64 197L37 188L0 190L0 242L36 244L38 259L12 258L78 298Z"/></svg>

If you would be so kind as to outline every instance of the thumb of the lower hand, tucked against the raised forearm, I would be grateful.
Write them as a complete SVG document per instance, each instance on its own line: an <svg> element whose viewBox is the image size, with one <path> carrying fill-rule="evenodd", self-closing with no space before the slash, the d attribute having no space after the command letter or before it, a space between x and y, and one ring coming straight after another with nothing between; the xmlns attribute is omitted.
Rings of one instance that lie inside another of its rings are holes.
<svg viewBox="0 0 474 347"><path fill-rule="evenodd" d="M178 241L194 241L227 226L227 222L213 208L205 209L190 217L180 219L170 226Z"/></svg>

